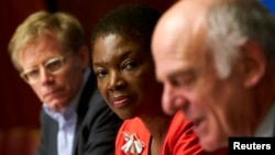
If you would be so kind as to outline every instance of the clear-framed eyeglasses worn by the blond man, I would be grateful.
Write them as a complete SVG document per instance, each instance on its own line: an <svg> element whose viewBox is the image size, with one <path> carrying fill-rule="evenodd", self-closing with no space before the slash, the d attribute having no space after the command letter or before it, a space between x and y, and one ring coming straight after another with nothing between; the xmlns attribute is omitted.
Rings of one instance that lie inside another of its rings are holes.
<svg viewBox="0 0 275 155"><path fill-rule="evenodd" d="M57 75L63 69L65 58L70 54L73 54L73 52L66 53L65 55L59 57L51 58L45 64L43 64L42 67L45 68L47 74ZM22 77L30 85L35 84L40 80L40 67L30 68L23 70L20 74L20 77Z"/></svg>

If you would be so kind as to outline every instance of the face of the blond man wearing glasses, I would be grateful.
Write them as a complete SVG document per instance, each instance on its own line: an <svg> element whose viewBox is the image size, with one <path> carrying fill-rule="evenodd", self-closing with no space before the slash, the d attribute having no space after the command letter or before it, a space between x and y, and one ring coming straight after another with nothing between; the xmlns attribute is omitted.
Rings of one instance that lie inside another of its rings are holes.
<svg viewBox="0 0 275 155"><path fill-rule="evenodd" d="M37 68L38 76L30 84L40 100L48 108L61 110L76 96L84 76L84 59L79 54L70 54L63 60L58 73L51 73L45 67L50 59L69 53L55 35L35 38L19 53L19 62L23 70Z"/></svg>

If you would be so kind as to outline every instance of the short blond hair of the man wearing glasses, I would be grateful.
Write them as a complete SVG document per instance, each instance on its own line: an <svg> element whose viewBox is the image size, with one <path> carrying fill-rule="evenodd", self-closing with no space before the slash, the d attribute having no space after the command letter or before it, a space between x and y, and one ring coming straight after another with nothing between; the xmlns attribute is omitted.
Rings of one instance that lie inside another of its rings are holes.
<svg viewBox="0 0 275 155"><path fill-rule="evenodd" d="M15 30L8 46L14 67L21 70L19 52L35 38L56 34L64 47L76 52L85 44L85 33L79 21L69 13L38 11L28 16Z"/></svg>

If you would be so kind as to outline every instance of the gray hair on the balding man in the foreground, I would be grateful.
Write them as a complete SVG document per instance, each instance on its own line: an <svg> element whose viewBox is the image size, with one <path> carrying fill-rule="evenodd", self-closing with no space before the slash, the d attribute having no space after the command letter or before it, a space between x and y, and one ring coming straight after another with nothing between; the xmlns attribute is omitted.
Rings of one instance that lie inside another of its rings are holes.
<svg viewBox="0 0 275 155"><path fill-rule="evenodd" d="M227 0L207 14L207 42L221 78L241 56L240 46L254 41L263 48L267 68L274 69L275 20L257 0Z"/></svg>

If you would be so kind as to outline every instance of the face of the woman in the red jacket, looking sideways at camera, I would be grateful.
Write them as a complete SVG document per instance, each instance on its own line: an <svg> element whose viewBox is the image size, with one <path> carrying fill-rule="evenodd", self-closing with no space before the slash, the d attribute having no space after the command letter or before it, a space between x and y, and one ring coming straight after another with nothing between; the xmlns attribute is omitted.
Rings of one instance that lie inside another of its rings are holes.
<svg viewBox="0 0 275 155"><path fill-rule="evenodd" d="M122 35L99 36L92 47L92 68L108 106L131 119L161 107L162 86L156 82L151 53Z"/></svg>

